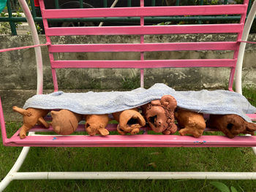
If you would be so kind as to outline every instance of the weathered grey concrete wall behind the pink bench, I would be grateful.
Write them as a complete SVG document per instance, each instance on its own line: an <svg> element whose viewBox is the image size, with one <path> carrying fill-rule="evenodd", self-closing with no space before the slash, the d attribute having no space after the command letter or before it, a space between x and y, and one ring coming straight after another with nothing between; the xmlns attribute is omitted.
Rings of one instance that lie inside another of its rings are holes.
<svg viewBox="0 0 256 192"><path fill-rule="evenodd" d="M202 42L232 41L232 35L172 35L172 36L146 36L145 42ZM40 36L45 43L45 36ZM57 43L121 43L140 42L139 36L126 37L54 37ZM256 35L249 37L249 41L256 42ZM31 45L30 35L0 36L0 49L6 47L19 47ZM34 49L17 50L1 54L0 66L0 94L7 112L12 105L23 106L29 96L34 95L37 85ZM244 85L256 86L256 45L247 45L244 57ZM53 90L52 76L47 47L42 47L44 63L44 89L45 93ZM54 55L55 58L65 59L140 59L139 53L63 53ZM145 53L146 59L173 59L173 58L232 58L232 52L225 51L176 51ZM230 70L223 68L191 68L191 69L146 69L145 87L148 88L156 82L165 82L170 87L181 89L227 88ZM104 89L123 90L138 87L140 84L139 69L59 69L57 70L60 90L78 89ZM8 113L9 114L9 113ZM9 117L9 116L8 116ZM10 118L12 119L12 115Z"/></svg>

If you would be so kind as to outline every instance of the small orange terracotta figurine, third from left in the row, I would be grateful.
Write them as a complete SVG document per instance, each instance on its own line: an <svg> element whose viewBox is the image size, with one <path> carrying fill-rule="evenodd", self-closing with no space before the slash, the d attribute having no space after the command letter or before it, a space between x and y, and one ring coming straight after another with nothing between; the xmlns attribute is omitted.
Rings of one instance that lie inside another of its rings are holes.
<svg viewBox="0 0 256 192"><path fill-rule="evenodd" d="M105 128L108 125L108 121L108 114L86 115L86 132L91 136L95 134L106 136L109 134L108 129Z"/></svg>

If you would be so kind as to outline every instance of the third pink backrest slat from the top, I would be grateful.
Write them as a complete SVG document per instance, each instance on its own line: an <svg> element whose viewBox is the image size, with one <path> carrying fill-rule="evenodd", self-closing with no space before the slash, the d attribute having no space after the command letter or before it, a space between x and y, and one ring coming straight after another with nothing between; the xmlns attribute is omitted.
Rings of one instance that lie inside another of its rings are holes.
<svg viewBox="0 0 256 192"><path fill-rule="evenodd" d="M237 42L173 42L145 44L69 44L50 45L50 53L146 52L174 50L235 50Z"/></svg>

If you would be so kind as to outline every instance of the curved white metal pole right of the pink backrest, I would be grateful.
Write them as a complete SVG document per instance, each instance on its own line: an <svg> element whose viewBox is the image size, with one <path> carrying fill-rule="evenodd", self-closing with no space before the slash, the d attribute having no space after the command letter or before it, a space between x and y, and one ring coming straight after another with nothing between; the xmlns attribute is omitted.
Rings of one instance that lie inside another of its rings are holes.
<svg viewBox="0 0 256 192"><path fill-rule="evenodd" d="M241 41L247 41L249 36L249 31L252 26L253 20L255 19L256 14L256 1L253 2L252 8L249 12L249 15L244 24L244 31L241 37ZM242 66L244 60L244 50L245 50L246 42L241 42L238 52L238 60L236 64L236 92L242 94Z"/></svg>

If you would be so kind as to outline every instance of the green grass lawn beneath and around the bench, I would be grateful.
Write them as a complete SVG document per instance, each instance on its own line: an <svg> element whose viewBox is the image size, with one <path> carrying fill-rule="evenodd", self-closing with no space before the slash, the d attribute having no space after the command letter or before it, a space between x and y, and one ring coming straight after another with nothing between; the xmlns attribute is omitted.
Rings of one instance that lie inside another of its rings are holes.
<svg viewBox="0 0 256 192"><path fill-rule="evenodd" d="M244 89L256 106L256 89ZM14 133L20 123L7 123ZM22 147L0 145L0 178ZM249 147L31 147L20 172L256 172ZM213 180L21 180L5 191L217 191ZM256 181L219 180L237 191L256 191Z"/></svg>

